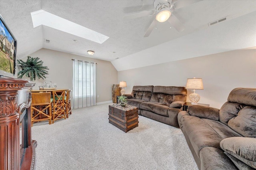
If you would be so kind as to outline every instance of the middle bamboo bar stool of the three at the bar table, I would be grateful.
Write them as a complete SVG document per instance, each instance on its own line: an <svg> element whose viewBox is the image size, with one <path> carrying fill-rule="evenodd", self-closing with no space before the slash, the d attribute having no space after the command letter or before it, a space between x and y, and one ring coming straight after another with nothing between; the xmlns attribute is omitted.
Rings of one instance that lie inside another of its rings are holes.
<svg viewBox="0 0 256 170"><path fill-rule="evenodd" d="M64 111L64 97L65 90L57 90L52 92L53 99L53 115L52 115L52 123L58 119L66 119L66 114Z"/></svg>

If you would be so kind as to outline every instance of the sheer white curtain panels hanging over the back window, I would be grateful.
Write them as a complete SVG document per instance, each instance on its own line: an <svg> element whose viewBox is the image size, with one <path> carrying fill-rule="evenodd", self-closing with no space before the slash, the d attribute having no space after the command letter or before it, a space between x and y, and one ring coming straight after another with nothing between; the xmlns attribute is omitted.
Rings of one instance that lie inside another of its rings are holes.
<svg viewBox="0 0 256 170"><path fill-rule="evenodd" d="M96 105L96 63L73 60L73 108Z"/></svg>

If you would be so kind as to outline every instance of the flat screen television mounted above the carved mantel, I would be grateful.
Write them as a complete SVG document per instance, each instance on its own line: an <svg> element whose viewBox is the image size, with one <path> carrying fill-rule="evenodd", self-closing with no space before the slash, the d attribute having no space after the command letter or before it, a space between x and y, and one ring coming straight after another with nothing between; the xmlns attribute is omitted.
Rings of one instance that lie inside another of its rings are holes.
<svg viewBox="0 0 256 170"><path fill-rule="evenodd" d="M0 76L15 77L17 40L0 15Z"/></svg>

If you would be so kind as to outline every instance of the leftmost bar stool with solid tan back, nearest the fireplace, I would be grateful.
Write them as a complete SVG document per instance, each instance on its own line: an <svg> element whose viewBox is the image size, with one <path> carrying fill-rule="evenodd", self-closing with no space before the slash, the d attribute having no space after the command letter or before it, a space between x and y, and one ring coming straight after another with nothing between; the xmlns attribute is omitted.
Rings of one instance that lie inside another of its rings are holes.
<svg viewBox="0 0 256 170"><path fill-rule="evenodd" d="M31 94L31 126L33 126L33 122L45 120L52 124L51 92L32 92Z"/></svg>

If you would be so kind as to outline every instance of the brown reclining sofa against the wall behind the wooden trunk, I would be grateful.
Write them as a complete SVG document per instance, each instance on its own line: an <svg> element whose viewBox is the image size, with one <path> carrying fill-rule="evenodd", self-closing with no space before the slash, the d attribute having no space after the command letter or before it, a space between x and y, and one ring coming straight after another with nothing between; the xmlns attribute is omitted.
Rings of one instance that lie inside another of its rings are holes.
<svg viewBox="0 0 256 170"><path fill-rule="evenodd" d="M179 127L177 115L186 102L185 87L133 86L127 104L138 107L139 115Z"/></svg>

